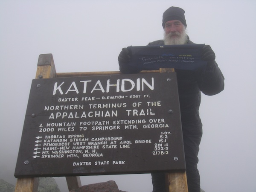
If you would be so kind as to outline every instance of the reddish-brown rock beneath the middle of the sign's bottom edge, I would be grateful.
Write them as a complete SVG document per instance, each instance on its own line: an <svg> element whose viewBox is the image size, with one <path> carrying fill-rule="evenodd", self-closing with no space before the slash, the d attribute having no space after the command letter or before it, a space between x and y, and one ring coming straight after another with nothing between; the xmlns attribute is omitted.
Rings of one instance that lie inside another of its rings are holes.
<svg viewBox="0 0 256 192"><path fill-rule="evenodd" d="M119 191L116 182L113 180L103 182L103 183L95 183L90 185L84 185L79 187L78 189L73 189L70 192L123 192Z"/></svg>

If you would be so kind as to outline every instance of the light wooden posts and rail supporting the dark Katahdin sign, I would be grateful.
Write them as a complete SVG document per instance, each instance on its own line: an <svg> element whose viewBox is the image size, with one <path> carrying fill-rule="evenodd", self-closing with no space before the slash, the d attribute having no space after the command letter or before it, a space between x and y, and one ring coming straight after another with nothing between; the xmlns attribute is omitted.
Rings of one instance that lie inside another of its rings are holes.
<svg viewBox="0 0 256 192"><path fill-rule="evenodd" d="M73 76L91 76L103 74L120 74L120 72L76 72L76 73L56 73L55 64L52 54L41 54L38 58L36 79L56 78L56 77L73 77ZM160 68L154 71L142 71L140 73L169 73L174 69ZM81 187L79 176L66 176L67 186L69 190ZM188 192L186 172L167 172L166 186L169 192ZM38 177L17 178L15 192L26 191L36 192L38 189Z"/></svg>

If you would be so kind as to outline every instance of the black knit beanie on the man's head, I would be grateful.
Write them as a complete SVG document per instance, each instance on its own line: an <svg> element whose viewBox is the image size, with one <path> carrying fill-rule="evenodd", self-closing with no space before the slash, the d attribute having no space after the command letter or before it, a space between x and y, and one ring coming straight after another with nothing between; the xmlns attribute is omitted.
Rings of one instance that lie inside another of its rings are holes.
<svg viewBox="0 0 256 192"><path fill-rule="evenodd" d="M179 20L186 27L186 19L184 13L185 11L179 7L170 7L167 9L165 12L163 12L163 28L165 23L169 20Z"/></svg>

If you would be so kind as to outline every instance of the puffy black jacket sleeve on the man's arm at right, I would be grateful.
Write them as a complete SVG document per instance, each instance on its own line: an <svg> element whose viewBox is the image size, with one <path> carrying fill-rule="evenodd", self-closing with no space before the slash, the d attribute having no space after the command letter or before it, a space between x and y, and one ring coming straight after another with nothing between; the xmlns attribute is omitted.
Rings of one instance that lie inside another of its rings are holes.
<svg viewBox="0 0 256 192"><path fill-rule="evenodd" d="M215 95L224 90L224 76L215 61L209 61L198 76L198 87L205 95Z"/></svg>

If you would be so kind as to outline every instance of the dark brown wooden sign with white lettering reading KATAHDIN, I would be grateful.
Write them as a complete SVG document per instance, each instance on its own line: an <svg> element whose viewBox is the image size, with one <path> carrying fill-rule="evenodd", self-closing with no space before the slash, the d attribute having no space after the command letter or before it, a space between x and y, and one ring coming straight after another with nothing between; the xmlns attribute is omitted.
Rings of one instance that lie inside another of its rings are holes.
<svg viewBox="0 0 256 192"><path fill-rule="evenodd" d="M32 81L15 177L185 171L176 73Z"/></svg>

